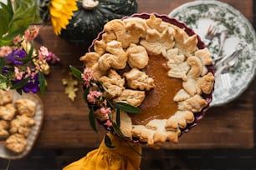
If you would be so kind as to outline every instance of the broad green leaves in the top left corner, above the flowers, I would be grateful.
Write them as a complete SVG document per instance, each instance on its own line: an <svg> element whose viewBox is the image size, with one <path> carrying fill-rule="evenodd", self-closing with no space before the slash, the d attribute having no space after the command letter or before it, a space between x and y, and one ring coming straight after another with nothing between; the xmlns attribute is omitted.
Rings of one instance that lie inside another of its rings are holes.
<svg viewBox="0 0 256 170"><path fill-rule="evenodd" d="M31 23L40 23L38 4L34 0L0 2L0 47L11 44L14 37L22 34Z"/></svg>

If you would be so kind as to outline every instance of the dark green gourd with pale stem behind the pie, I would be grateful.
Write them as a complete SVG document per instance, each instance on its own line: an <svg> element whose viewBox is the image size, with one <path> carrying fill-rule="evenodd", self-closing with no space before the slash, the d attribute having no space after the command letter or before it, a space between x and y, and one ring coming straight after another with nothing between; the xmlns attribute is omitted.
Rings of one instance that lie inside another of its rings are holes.
<svg viewBox="0 0 256 170"><path fill-rule="evenodd" d="M39 0L40 16L44 22L49 21L50 0ZM79 0L78 10L74 11L66 29L62 29L59 37L74 44L89 47L102 31L105 23L119 19L137 11L136 0Z"/></svg>

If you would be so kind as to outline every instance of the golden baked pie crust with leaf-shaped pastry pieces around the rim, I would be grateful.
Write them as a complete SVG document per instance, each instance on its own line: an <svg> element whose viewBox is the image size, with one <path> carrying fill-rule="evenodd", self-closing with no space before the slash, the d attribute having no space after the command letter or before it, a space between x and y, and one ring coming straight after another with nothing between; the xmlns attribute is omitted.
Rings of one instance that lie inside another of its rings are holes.
<svg viewBox="0 0 256 170"><path fill-rule="evenodd" d="M108 89L105 97L135 107L140 107L147 92L156 88L154 78L145 71L151 56L165 58L167 78L181 81L172 99L175 112L165 118L153 117L144 124L135 124L130 114L120 112L120 130L125 138L138 139L153 148L166 141L178 143L187 124L196 121L195 113L206 111L214 86L207 47L199 48L196 34L188 35L179 22L172 24L165 18L144 13L112 20L105 24L90 52L80 57L84 66L94 71L95 79ZM99 115L98 112L96 116L104 121ZM115 122L116 112L111 112L111 117Z"/></svg>

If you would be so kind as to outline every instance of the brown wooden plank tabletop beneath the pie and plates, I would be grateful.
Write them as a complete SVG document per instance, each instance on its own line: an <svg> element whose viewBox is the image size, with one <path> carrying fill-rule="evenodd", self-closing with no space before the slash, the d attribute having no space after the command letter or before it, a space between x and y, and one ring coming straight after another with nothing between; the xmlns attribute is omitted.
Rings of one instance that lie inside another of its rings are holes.
<svg viewBox="0 0 256 170"><path fill-rule="evenodd" d="M170 13L186 0L138 0L138 12ZM253 0L225 0L253 21ZM48 87L42 97L44 125L39 134L38 148L96 148L105 130L95 133L88 121L88 108L82 98L82 87L74 102L64 93L62 78L69 65L82 69L79 57L84 47L75 47L56 37L51 27L43 27L40 43L61 58L61 66L52 67L47 77ZM207 115L190 133L182 135L178 144L167 143L164 148L253 148L253 83L233 102L210 108Z"/></svg>

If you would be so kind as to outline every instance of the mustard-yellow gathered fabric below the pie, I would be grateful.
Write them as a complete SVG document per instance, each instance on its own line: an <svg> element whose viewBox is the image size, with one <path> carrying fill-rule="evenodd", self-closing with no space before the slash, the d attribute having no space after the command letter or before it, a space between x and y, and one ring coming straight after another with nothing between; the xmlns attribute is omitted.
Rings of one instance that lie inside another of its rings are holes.
<svg viewBox="0 0 256 170"><path fill-rule="evenodd" d="M99 148L87 153L84 158L70 163L63 170L141 169L141 145L139 143L129 145L125 143L124 139L115 137L115 135L110 133L107 135L111 139L112 146L115 148L106 147L103 139Z"/></svg>

